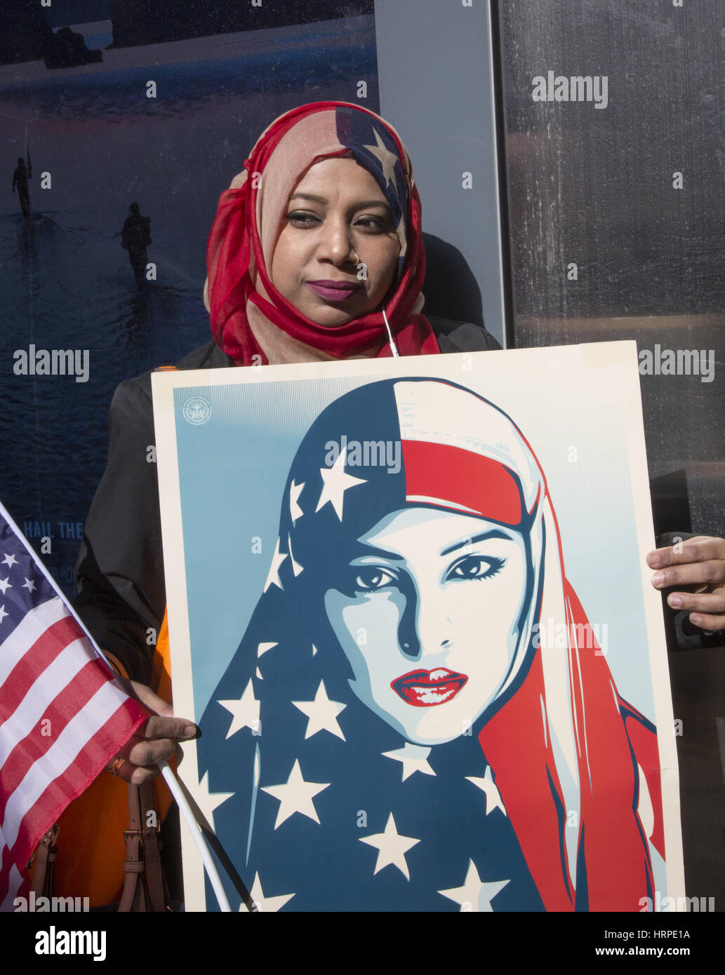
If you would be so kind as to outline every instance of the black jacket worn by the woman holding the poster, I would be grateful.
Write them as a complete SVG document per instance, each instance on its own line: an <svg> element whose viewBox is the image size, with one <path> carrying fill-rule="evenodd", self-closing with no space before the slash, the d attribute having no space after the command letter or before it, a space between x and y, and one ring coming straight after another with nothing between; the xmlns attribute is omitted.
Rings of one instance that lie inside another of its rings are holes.
<svg viewBox="0 0 725 975"><path fill-rule="evenodd" d="M428 321L441 352L501 348L479 326L432 315ZM185 356L177 369L233 365L212 341ZM118 386L108 425L108 460L76 565L75 607L101 649L133 680L148 683L166 608L150 372Z"/></svg>

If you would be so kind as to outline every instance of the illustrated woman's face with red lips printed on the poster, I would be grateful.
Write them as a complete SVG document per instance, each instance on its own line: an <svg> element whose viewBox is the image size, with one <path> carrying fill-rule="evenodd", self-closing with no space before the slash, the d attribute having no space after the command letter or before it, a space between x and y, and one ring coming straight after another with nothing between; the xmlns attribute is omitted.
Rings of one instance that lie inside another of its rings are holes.
<svg viewBox="0 0 725 975"><path fill-rule="evenodd" d="M325 594L357 697L409 741L468 730L496 699L519 641L527 557L517 531L407 508L360 539Z"/></svg>

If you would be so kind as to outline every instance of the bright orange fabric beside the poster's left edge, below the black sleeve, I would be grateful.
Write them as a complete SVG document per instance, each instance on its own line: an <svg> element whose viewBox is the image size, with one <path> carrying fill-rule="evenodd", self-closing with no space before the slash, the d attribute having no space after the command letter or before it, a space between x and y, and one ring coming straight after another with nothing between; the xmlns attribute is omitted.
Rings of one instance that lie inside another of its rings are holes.
<svg viewBox="0 0 725 975"><path fill-rule="evenodd" d="M154 652L150 686L165 701L171 701L166 613ZM103 770L60 816L54 891L58 896L88 897L91 907L120 899L126 859L123 834L129 828L128 796L127 783ZM153 798L161 824L172 803L161 776L153 780Z"/></svg>

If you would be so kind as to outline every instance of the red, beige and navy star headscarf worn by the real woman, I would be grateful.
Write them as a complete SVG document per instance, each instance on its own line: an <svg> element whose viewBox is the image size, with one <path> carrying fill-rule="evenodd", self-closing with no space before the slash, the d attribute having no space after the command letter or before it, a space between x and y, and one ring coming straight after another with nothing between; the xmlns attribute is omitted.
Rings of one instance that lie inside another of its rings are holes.
<svg viewBox="0 0 725 975"><path fill-rule="evenodd" d="M375 112L319 101L276 119L220 197L207 246L204 300L218 344L238 365L267 362L255 332L268 333L270 326L283 333L283 341L289 336L291 348L314 349L324 354L321 358L391 354L380 311L341 328L324 328L302 315L269 279L295 186L313 163L338 156L353 158L375 177L400 239L397 275L385 302L400 354L439 351L430 323L420 314L425 274L421 201L405 146ZM255 355L261 358L253 360ZM297 361L294 353L289 361Z"/></svg>

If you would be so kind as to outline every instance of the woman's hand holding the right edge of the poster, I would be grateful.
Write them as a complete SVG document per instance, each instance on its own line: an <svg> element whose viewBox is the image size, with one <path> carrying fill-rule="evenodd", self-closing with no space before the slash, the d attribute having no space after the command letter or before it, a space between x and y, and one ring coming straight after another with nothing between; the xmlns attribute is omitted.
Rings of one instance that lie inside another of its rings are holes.
<svg viewBox="0 0 725 975"><path fill-rule="evenodd" d="M672 609L687 609L690 622L703 630L725 630L725 539L696 535L647 556L655 589L693 587L667 596Z"/></svg>

